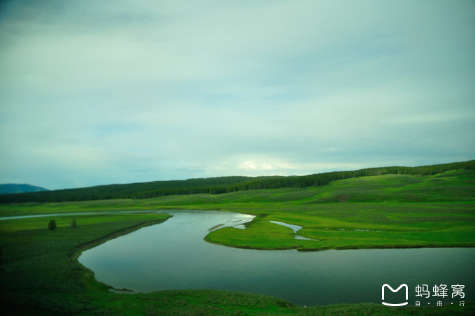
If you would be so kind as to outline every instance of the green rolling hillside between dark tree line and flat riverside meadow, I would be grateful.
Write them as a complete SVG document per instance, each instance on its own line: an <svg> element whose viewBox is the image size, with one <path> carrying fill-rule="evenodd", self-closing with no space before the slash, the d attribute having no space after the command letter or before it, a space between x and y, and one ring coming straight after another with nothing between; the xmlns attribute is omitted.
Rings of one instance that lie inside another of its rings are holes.
<svg viewBox="0 0 475 316"><path fill-rule="evenodd" d="M154 199L112 199L52 203L0 204L2 216L96 210L256 209L291 210L331 203L465 203L475 201L475 170L421 175L375 175L337 180L319 187L253 189L226 194L189 194Z"/></svg>

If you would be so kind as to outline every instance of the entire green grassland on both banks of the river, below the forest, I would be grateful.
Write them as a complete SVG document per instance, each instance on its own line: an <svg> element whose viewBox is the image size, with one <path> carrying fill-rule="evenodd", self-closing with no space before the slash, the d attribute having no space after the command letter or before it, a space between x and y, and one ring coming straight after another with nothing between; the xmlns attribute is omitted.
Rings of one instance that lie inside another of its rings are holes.
<svg viewBox="0 0 475 316"><path fill-rule="evenodd" d="M377 175L306 188L63 203L0 204L0 216L115 210L227 210L256 215L211 243L258 249L475 246L475 171ZM76 260L82 250L149 224L156 213L66 215L0 221L0 297L8 315L473 315L465 308L387 308L372 303L294 306L268 296L214 290L117 294ZM75 219L78 228L71 227ZM57 229L49 231L54 220ZM302 226L297 240L276 220Z"/></svg>

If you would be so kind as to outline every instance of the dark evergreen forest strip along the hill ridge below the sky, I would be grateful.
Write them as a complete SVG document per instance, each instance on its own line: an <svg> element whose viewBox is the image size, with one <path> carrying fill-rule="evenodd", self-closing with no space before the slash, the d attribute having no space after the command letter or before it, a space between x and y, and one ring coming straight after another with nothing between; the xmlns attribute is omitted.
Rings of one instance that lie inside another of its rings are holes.
<svg viewBox="0 0 475 316"><path fill-rule="evenodd" d="M473 170L475 169L475 160L417 167L389 166L364 168L356 171L333 171L312 175L263 177L234 176L141 182L126 185L100 185L80 189L60 189L46 192L6 194L0 196L0 203L150 199L159 196L177 194L222 194L249 189L278 189L282 187L312 187L328 185L330 182L335 180L370 175L434 175L457 169Z"/></svg>

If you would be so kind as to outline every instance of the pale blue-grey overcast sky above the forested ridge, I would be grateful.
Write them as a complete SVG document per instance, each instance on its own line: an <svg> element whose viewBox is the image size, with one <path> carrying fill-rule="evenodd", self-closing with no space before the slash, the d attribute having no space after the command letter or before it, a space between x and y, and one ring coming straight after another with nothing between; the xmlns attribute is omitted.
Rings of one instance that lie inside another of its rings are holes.
<svg viewBox="0 0 475 316"><path fill-rule="evenodd" d="M0 1L0 183L475 159L475 1Z"/></svg>

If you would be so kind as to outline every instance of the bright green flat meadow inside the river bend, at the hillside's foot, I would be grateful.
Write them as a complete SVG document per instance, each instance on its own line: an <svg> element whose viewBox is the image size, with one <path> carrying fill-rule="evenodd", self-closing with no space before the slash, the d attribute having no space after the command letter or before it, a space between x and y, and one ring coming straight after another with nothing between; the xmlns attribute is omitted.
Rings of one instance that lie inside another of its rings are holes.
<svg viewBox="0 0 475 316"><path fill-rule="evenodd" d="M474 207L462 203L337 203L307 210L261 211L247 229L212 231L207 240L259 249L323 250L475 245ZM300 225L292 229L270 220Z"/></svg>

